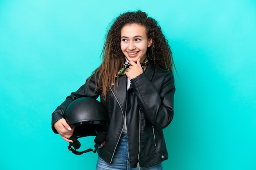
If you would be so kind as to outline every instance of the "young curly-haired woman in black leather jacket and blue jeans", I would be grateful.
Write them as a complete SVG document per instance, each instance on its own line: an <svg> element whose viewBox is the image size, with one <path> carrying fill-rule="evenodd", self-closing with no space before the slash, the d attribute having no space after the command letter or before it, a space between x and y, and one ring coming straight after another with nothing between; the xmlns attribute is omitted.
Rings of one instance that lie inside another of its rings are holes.
<svg viewBox="0 0 256 170"><path fill-rule="evenodd" d="M72 142L66 107L100 96L110 122L96 169L162 170L168 159L162 130L173 119L174 93L173 58L161 28L144 12L123 13L108 31L102 64L52 113L52 129Z"/></svg>

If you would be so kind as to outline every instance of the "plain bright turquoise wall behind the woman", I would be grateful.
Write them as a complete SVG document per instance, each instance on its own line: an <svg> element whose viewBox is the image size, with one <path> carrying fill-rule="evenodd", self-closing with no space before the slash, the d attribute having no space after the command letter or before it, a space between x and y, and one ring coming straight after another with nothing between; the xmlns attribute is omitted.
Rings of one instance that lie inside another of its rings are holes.
<svg viewBox="0 0 256 170"><path fill-rule="evenodd" d="M97 154L67 152L51 113L101 63L111 21L137 9L177 68L164 169L256 169L255 0L0 0L1 170L95 169Z"/></svg>

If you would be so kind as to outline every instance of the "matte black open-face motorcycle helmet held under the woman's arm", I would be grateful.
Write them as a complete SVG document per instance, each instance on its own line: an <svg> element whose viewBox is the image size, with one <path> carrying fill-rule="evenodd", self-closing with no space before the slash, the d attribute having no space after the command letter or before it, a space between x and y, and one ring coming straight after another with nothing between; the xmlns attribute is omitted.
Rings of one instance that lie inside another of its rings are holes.
<svg viewBox="0 0 256 170"><path fill-rule="evenodd" d="M90 97L78 98L68 105L63 117L70 127L75 127L74 133L70 137L73 143L70 142L67 147L68 151L71 150L72 153L81 155L89 151L95 153L97 149L105 146L108 131L108 113L101 102ZM86 136L96 136L94 139L95 149L76 151L81 146L78 138Z"/></svg>

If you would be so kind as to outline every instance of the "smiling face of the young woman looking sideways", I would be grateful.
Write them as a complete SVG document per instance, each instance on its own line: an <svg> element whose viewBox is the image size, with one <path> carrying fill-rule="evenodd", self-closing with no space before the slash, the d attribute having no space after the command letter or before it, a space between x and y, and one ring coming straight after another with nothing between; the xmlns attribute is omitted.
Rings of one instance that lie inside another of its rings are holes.
<svg viewBox="0 0 256 170"><path fill-rule="evenodd" d="M136 63L140 58L142 63L151 44L152 39L148 39L144 26L127 24L121 29L121 50L129 61Z"/></svg>

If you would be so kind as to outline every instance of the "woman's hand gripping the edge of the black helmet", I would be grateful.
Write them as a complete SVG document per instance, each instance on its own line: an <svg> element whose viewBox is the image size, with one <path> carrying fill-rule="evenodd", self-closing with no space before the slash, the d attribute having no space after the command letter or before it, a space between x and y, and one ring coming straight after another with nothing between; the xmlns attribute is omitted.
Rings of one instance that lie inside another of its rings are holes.
<svg viewBox="0 0 256 170"><path fill-rule="evenodd" d="M75 127L70 127L64 118L58 120L53 124L54 128L61 135L61 137L67 142L73 142L69 138L73 135Z"/></svg>

